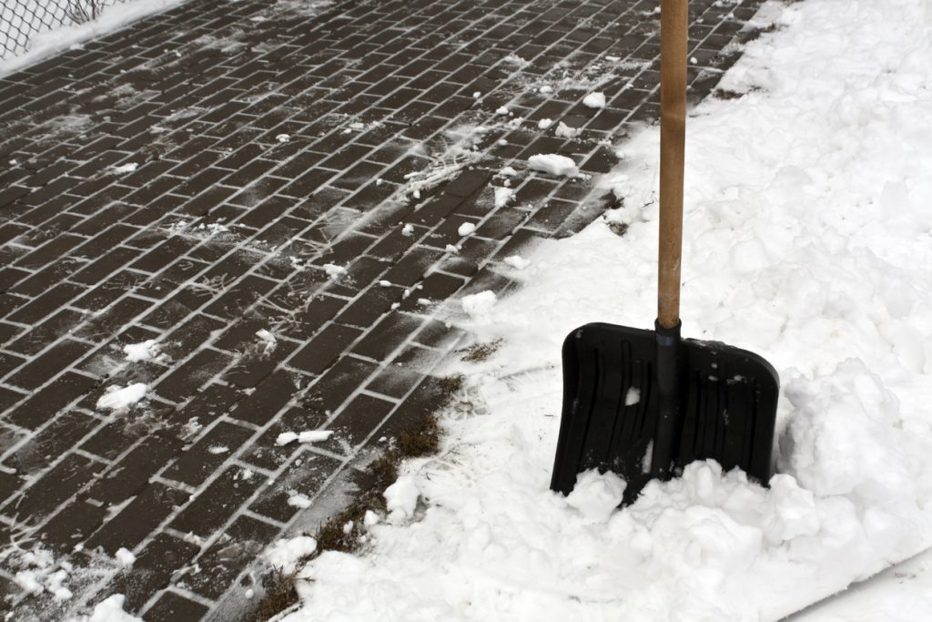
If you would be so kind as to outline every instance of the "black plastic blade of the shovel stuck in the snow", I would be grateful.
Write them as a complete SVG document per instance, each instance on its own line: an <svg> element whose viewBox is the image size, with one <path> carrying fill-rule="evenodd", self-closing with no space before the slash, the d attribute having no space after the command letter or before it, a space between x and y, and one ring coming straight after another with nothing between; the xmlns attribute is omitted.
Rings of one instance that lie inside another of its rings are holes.
<svg viewBox="0 0 932 622"><path fill-rule="evenodd" d="M589 324L569 334L552 490L569 494L579 473L597 468L627 481L628 504L655 477L657 352L652 330ZM686 464L711 458L726 471L738 467L766 484L779 392L774 367L753 352L694 339L679 340L676 360L678 433L661 439L670 443L668 470L677 474Z"/></svg>

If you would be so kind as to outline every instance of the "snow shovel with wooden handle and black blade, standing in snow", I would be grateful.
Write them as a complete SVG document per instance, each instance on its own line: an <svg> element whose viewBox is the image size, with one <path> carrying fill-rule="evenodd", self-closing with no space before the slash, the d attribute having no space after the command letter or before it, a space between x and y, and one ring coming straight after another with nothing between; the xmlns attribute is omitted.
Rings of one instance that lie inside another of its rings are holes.
<svg viewBox="0 0 932 622"><path fill-rule="evenodd" d="M654 330L589 324L563 344L563 412L550 488L596 468L624 478L624 504L652 478L713 459L766 484L776 370L723 343L680 339L687 0L661 3L660 253Z"/></svg>

